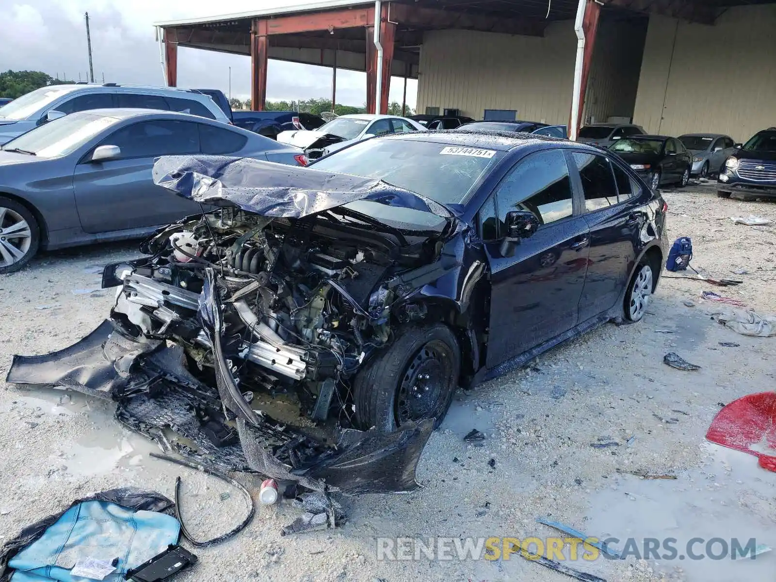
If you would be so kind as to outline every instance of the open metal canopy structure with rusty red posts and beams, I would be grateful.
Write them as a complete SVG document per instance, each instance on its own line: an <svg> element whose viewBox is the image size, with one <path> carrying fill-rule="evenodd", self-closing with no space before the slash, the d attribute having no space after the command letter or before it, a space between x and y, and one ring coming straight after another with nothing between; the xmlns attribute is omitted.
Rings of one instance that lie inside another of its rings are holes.
<svg viewBox="0 0 776 582"><path fill-rule="evenodd" d="M589 72L601 7L623 15L660 14L713 25L733 5L773 0L585 0L585 71ZM307 5L241 12L210 19L156 23L164 31L168 85L177 82L178 47L251 56L252 108L266 99L268 58L317 64L367 74L367 111L386 113L390 77L417 78L423 34L467 29L543 36L550 23L573 19L578 0L387 0L376 16L374 2L322 0ZM382 66L373 38L379 29ZM377 71L382 71L377 82ZM587 74L583 83L587 85ZM376 87L380 86L379 105ZM584 88L584 87L583 87ZM584 92L582 93L584 95Z"/></svg>

